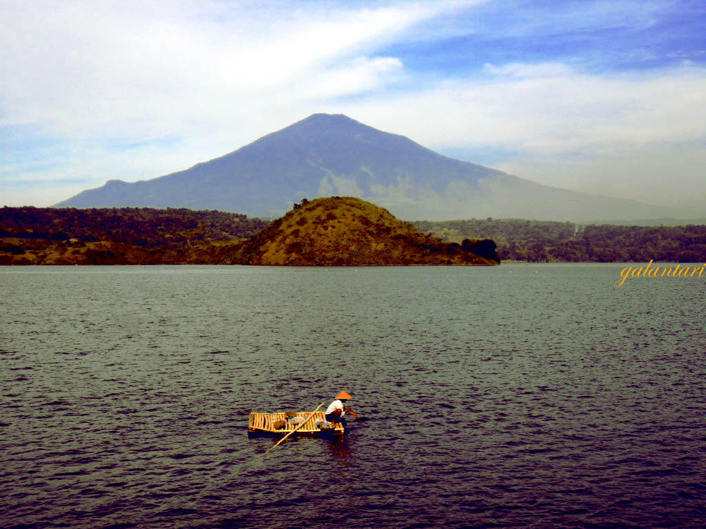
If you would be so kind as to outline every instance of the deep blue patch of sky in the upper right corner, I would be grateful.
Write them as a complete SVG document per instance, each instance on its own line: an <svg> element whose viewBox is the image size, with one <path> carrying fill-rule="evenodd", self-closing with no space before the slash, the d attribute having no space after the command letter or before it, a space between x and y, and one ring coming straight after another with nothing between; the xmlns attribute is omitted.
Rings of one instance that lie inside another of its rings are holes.
<svg viewBox="0 0 706 529"><path fill-rule="evenodd" d="M397 56L407 71L437 75L546 61L590 73L649 70L703 62L705 17L706 4L693 1L489 2L453 17L457 34L395 42L381 54Z"/></svg>

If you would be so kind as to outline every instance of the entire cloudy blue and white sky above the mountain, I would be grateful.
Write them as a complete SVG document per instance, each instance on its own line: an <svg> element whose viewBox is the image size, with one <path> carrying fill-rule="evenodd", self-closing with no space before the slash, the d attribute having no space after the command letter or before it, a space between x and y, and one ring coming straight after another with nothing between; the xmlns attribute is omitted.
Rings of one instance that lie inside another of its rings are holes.
<svg viewBox="0 0 706 529"><path fill-rule="evenodd" d="M316 112L537 183L706 214L702 0L0 0L0 205Z"/></svg>

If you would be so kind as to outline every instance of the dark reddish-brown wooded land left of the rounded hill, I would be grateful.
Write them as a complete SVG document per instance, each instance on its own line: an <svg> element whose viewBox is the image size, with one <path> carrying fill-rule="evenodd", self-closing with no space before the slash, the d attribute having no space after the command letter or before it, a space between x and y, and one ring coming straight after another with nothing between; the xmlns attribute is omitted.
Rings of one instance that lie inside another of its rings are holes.
<svg viewBox="0 0 706 529"><path fill-rule="evenodd" d="M267 223L191 209L0 209L0 265L198 262L205 248L239 243Z"/></svg>

